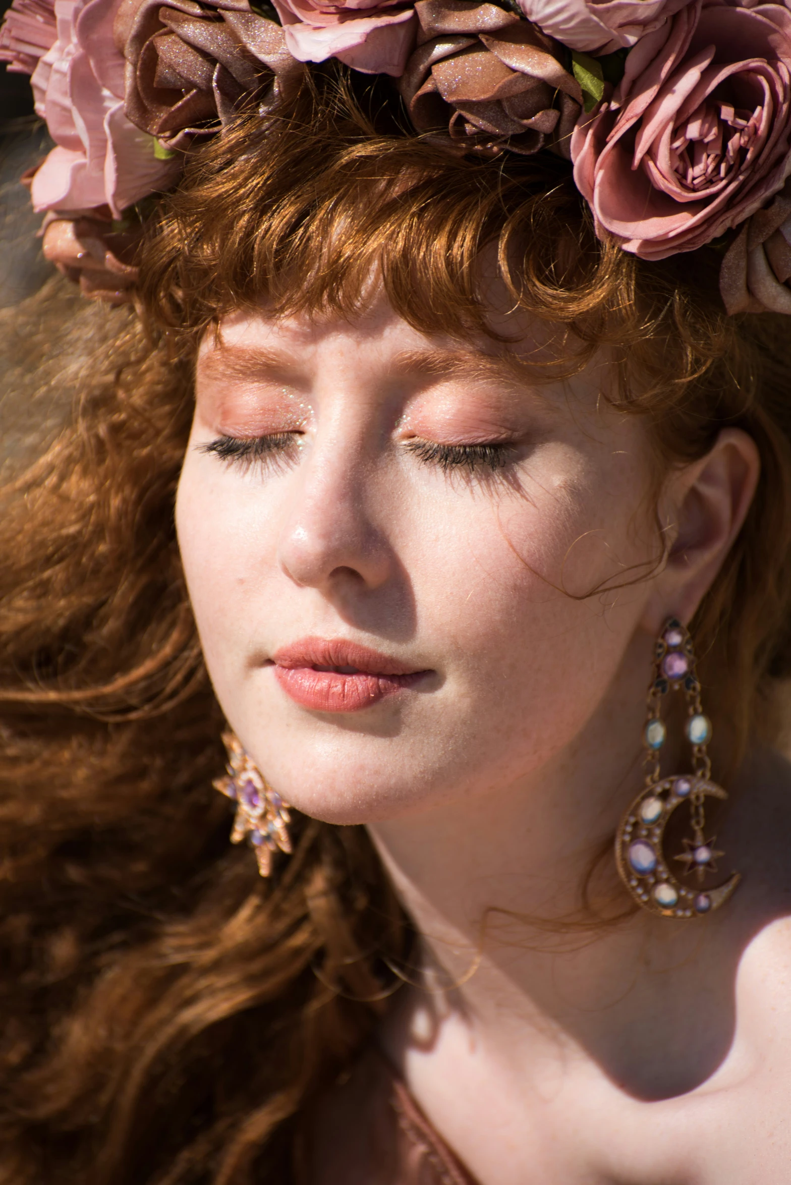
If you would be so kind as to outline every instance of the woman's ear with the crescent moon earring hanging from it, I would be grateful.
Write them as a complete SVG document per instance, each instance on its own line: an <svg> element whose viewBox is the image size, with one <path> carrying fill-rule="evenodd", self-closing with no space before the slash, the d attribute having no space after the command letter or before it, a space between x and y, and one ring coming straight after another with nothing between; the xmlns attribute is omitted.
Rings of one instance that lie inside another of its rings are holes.
<svg viewBox="0 0 791 1185"><path fill-rule="evenodd" d="M706 456L670 474L660 504L670 550L645 607L649 633L670 616L692 620L741 530L759 474L758 446L740 428L724 428Z"/></svg>

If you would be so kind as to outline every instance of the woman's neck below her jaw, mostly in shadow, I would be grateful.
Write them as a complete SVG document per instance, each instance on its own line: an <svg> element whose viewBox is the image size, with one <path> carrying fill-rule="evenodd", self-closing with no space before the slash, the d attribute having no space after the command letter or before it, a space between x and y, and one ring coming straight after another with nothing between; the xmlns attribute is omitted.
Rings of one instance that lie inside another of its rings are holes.
<svg viewBox="0 0 791 1185"><path fill-rule="evenodd" d="M555 1048L562 1035L596 1050L637 1094L677 1087L657 1081L662 1057L645 1042L667 1044L676 1016L673 993L662 997L668 975L656 973L683 968L701 931L631 914L611 848L642 784L647 666L632 666L573 743L540 769L371 826L425 954L424 989L400 1010L401 1052L425 1049L426 1024L431 1045L461 1026L475 1030L477 1049L523 1076L536 1058L546 1065L547 1035ZM667 1023L647 1027L647 1008L657 1007ZM679 1038L705 1063L688 1035ZM641 1077L645 1064L651 1082ZM687 1085L686 1069L679 1072Z"/></svg>

